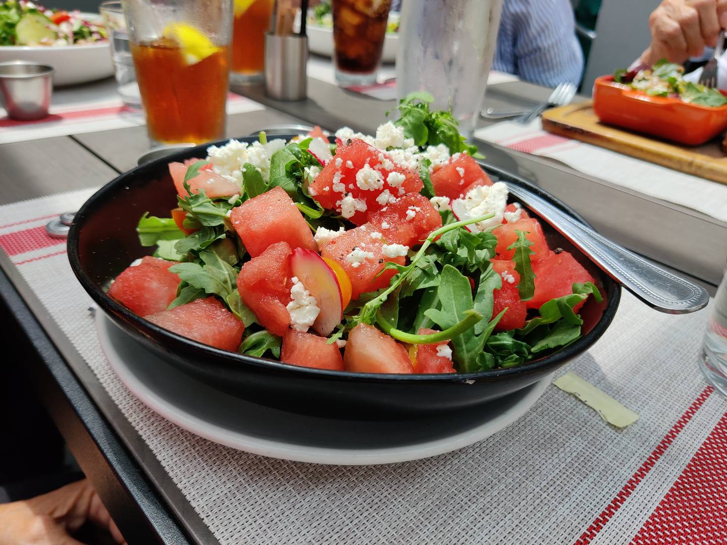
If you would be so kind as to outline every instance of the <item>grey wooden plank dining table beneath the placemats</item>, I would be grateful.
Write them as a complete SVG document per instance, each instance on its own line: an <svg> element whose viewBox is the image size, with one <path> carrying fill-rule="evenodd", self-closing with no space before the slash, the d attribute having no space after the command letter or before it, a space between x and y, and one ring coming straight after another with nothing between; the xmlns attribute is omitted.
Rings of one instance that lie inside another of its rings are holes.
<svg viewBox="0 0 727 545"><path fill-rule="evenodd" d="M348 125L372 132L394 105L314 79L309 80L308 89L310 98L303 102L269 100L260 87L236 89L267 108L230 116L228 135L305 122L326 129ZM489 100L497 102L498 108L531 105L549 93L530 84L499 84L489 90ZM146 149L143 127L1 145L0 203L101 185L134 166ZM533 179L614 240L675 269L687 270L704 283L718 281L727 255L727 225L585 177L546 158L484 144L481 149L488 161ZM11 267L0 272L0 297L10 309L6 319L17 323L28 346L40 356L33 358L35 363L28 371L47 410L129 543L216 542L68 339L40 312L39 302Z"/></svg>

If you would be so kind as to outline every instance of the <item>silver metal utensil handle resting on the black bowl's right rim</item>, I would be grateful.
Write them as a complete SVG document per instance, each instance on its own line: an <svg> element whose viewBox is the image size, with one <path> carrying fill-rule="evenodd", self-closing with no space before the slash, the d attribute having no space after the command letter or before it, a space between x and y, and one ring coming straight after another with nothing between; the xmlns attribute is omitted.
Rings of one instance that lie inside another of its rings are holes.
<svg viewBox="0 0 727 545"><path fill-rule="evenodd" d="M604 273L649 307L669 314L687 314L704 308L709 302L710 295L702 286L673 275L654 262L603 238L532 191L515 184L507 184L507 188L601 267Z"/></svg>

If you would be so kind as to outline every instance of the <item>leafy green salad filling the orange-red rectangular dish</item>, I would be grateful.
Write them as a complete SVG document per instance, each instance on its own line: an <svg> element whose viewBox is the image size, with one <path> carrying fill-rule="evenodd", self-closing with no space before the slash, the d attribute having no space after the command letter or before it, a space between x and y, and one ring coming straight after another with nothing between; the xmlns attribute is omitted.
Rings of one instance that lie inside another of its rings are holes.
<svg viewBox="0 0 727 545"><path fill-rule="evenodd" d="M683 73L683 66L662 59L651 68L616 70L614 81L651 97L678 98L688 104L714 108L727 104L727 97L718 89L686 81Z"/></svg>

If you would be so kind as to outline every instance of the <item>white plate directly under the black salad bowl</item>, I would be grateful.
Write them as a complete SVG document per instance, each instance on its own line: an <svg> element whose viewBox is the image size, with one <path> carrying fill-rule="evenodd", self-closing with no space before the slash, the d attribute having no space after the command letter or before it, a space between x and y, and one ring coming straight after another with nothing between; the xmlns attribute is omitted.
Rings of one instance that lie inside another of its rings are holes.
<svg viewBox="0 0 727 545"><path fill-rule="evenodd" d="M523 416L553 377L467 411L388 421L328 419L249 403L198 382L148 352L100 310L96 327L121 381L164 418L241 451L316 464L391 464L456 451Z"/></svg>

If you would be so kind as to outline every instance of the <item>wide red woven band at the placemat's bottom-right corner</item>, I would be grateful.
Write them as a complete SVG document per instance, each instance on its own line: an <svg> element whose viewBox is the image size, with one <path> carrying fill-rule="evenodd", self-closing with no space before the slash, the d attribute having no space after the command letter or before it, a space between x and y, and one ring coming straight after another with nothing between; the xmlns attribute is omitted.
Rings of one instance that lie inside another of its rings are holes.
<svg viewBox="0 0 727 545"><path fill-rule="evenodd" d="M676 480L634 545L727 543L727 413Z"/></svg>

